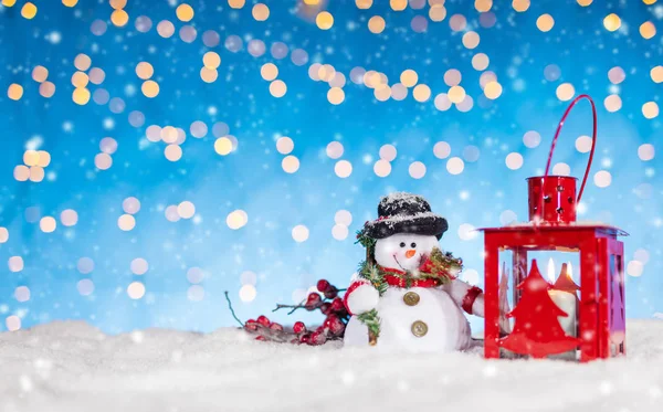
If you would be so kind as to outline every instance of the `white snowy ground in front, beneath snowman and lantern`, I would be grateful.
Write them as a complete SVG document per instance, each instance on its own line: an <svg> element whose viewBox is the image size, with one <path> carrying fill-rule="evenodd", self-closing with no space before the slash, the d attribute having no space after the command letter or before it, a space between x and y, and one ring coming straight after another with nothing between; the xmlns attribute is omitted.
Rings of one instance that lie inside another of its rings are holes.
<svg viewBox="0 0 663 412"><path fill-rule="evenodd" d="M663 321L628 329L627 359L576 365L53 323L0 334L0 411L663 411Z"/></svg>

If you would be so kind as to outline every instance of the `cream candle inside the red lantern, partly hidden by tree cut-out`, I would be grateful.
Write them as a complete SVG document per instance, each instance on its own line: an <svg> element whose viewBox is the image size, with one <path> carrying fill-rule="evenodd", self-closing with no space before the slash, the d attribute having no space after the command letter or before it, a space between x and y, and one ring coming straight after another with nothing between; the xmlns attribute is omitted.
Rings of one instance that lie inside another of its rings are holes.
<svg viewBox="0 0 663 412"><path fill-rule="evenodd" d="M579 287L573 282L571 274L569 273L570 264L564 263L561 265L561 272L552 288L548 290L550 298L557 307L564 310L567 316L560 316L559 325L567 334L567 336L577 337L577 316L578 316L578 296L576 293ZM555 279L555 263L552 258L548 262L548 278Z"/></svg>

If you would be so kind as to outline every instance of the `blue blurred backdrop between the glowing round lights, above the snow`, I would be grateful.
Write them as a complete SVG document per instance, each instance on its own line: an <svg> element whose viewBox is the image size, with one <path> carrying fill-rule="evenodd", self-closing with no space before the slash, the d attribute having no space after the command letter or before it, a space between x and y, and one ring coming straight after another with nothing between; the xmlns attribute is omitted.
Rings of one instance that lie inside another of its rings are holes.
<svg viewBox="0 0 663 412"><path fill-rule="evenodd" d="M29 327L54 319L85 319L109 332L150 326L204 331L230 326L233 320L223 290L230 292L238 315L246 319L269 313L277 302L293 303L293 292L308 288L317 278L347 284L364 255L362 247L354 244L352 233L376 218L379 198L396 190L423 194L435 212L446 216L450 230L443 247L462 256L481 278L482 236L463 241L459 226L499 225L505 210L513 210L520 221L527 219L525 178L541 173L545 167L552 133L568 104L556 96L564 82L573 84L576 93L592 95L599 110L597 155L581 219L600 220L629 232L628 261L636 250L649 253L642 276L628 276L628 316L652 317L663 311L661 156L651 161L638 156L642 144L660 148L660 118L644 118L641 108L646 102L660 102L661 85L652 82L650 70L662 63L661 36L644 40L638 28L650 20L663 30L663 4L594 0L582 8L570 0L541 0L516 13L511 1L502 1L492 9L496 24L483 28L472 1L448 0L446 19L429 21L428 31L417 33L410 20L428 15L428 6L394 12L387 0L376 0L370 10L358 10L354 1L329 0L324 8L333 13L335 24L323 31L307 13L298 11L294 0L266 0L271 15L265 22L251 17L252 1L241 10L230 10L220 0L192 1L196 17L190 24L197 28L198 38L188 44L177 31L170 39L156 32L156 23L164 19L177 29L185 24L176 18L176 2L129 0L126 11L130 20L125 28L110 24L112 9L105 1L81 0L70 9L60 1L38 0L39 12L32 20L20 15L22 3L0 7L0 226L10 232L9 242L0 244L2 320L19 315L23 327ZM536 28L536 19L544 12L555 18L555 27L547 33ZM613 33L602 24L610 12L622 19L621 29ZM463 46L463 32L450 29L450 17L455 13L465 15L467 29L481 35L475 50ZM376 14L387 21L381 34L367 29L367 20ZM149 32L135 29L138 15L151 19ZM101 36L91 32L95 19L108 22ZM222 63L219 80L212 84L199 76L202 54L209 50L201 40L206 30L221 35L213 50ZM236 53L223 46L231 34L244 40ZM57 36L60 41L53 41ZM250 55L249 39L263 40L267 53ZM290 55L273 59L269 50L276 41L291 51L306 50L308 64L296 66ZM488 70L504 87L499 98L483 98L482 105L481 72L471 65L477 52L490 56ZM123 113L114 114L108 105L92 101L85 106L72 102L70 78L78 53L90 55L92 66L106 72L104 83L92 89L103 87L112 97L123 98ZM134 72L140 61L155 67L161 89L154 99L140 93ZM278 78L287 84L283 98L270 95L269 82L261 78L260 67L266 62L278 66ZM339 106L327 102L328 85L309 78L313 62L332 64L346 75L346 99ZM39 95L39 84L31 80L32 68L39 64L49 68L49 80L57 87L50 99ZM550 64L561 70L557 81L544 76ZM612 85L608 71L618 65L627 77ZM371 89L349 81L355 66L383 72L390 84L403 70L414 68L433 95L425 103L415 102L411 93L402 102L377 102ZM449 68L462 72L461 85L474 98L469 113L434 107L433 97L449 88L443 81ZM11 83L24 87L19 102L7 98ZM623 102L617 113L603 107L611 93L618 93ZM555 152L554 162L568 163L577 177L585 171L587 154L576 150L575 139L591 131L588 107L582 103L572 113ZM145 114L145 125L129 125L131 110ZM206 138L189 135L194 120L208 125ZM238 150L229 156L214 152L211 129L217 122L228 124L239 140ZM162 142L145 139L146 127L152 124L187 130L180 161L164 157ZM541 135L538 147L524 145L523 135L528 130ZM119 147L113 167L96 170L94 157L99 140L107 136ZM299 158L301 168L294 175L281 168L283 155L275 147L278 136L290 136L295 142L293 155ZM50 178L40 183L14 180L13 169L22 162L27 145L40 139L40 149L52 155L46 168ZM336 160L325 154L333 140L343 142L341 159L352 163L347 179L335 175ZM472 145L480 149L480 158L466 161L464 171L452 176L446 159L433 156L433 146L440 140L451 145L452 157L463 157L464 148ZM378 178L372 167L385 144L394 145L398 156L391 175ZM518 170L505 165L512 151L525 159ZM417 180L409 176L412 161L427 166L425 177ZM593 183L599 170L612 175L608 188ZM141 210L136 228L123 232L117 219L123 214L123 200L130 196L140 200ZM164 207L185 200L196 204L196 222L167 221ZM64 228L59 222L55 232L43 233L39 223L25 219L31 207L39 208L42 216L56 218L62 210L74 209L78 223ZM249 222L233 231L225 218L235 209L244 210ZM344 241L332 236L338 210L348 210L354 218L350 235ZM293 240L291 231L297 224L309 229L306 242ZM8 271L7 261L14 255L25 262L20 273ZM76 270L77 261L85 256L95 262L91 275ZM129 264L136 257L149 262L147 274L131 274ZM187 297L186 273L192 266L208 274L201 284L206 290L202 302ZM257 295L251 303L242 303L238 295L244 271L257 274ZM94 282L91 296L81 296L76 289L84 277ZM144 282L147 288L139 300L127 296L127 285L134 281ZM30 288L30 300L17 302L18 286ZM298 317L322 320L306 314ZM295 320L285 313L273 318ZM7 330L4 321L0 321L0 330Z"/></svg>

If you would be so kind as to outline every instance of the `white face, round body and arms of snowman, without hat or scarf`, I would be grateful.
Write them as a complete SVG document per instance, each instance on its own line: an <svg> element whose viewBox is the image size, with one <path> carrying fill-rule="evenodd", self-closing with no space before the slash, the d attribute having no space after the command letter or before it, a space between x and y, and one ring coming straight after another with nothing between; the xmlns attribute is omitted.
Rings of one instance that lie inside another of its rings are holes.
<svg viewBox="0 0 663 412"><path fill-rule="evenodd" d="M439 247L435 236L398 233L376 243L375 257L382 268L408 271L417 277L422 260ZM359 281L360 282L360 281ZM466 349L471 330L461 305L470 285L454 279L439 287L390 286L379 296L370 284L348 290L348 309L361 314L372 308L380 317L379 349L446 352ZM483 315L483 296L472 306ZM352 316L347 325L346 346L368 346L368 328Z"/></svg>

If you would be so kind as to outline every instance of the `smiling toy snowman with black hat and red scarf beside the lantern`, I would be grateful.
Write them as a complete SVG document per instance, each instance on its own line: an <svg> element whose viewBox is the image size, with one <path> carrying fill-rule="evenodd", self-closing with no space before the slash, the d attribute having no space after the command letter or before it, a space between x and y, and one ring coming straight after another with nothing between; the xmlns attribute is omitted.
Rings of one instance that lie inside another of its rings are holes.
<svg viewBox="0 0 663 412"><path fill-rule="evenodd" d="M352 317L344 345L415 352L469 348L463 311L483 317L484 298L478 287L456 278L462 262L440 249L446 220L410 193L382 198L378 215L358 234L367 261L345 295Z"/></svg>

